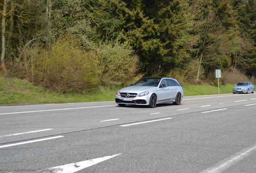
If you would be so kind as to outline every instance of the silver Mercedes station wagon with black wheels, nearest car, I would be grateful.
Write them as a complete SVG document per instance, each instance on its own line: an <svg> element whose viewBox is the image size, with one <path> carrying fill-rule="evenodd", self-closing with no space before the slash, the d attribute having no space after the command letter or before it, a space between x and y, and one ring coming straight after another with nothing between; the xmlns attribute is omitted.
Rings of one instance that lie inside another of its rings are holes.
<svg viewBox="0 0 256 173"><path fill-rule="evenodd" d="M120 89L116 93L116 103L125 105L149 105L154 108L159 103L173 103L180 105L184 93L179 82L174 78L144 77L131 84L130 87Z"/></svg>

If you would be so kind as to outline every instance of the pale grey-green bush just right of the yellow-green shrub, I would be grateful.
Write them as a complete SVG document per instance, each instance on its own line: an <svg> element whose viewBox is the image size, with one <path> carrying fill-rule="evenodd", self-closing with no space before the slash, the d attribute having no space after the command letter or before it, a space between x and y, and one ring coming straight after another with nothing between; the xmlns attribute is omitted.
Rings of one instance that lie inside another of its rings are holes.
<svg viewBox="0 0 256 173"><path fill-rule="evenodd" d="M128 42L118 40L101 42L99 46L99 76L103 84L127 85L136 80L139 60ZM139 75L141 76L141 75Z"/></svg>

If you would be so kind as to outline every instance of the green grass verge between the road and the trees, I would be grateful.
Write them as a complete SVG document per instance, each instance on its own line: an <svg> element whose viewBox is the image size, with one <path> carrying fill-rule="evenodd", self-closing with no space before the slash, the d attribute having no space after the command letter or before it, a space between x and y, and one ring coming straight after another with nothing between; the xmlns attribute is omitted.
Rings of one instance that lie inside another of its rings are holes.
<svg viewBox="0 0 256 173"><path fill-rule="evenodd" d="M220 94L232 93L233 84L221 85ZM210 85L182 85L184 96L218 94L218 87ZM114 85L100 86L85 93L58 93L47 91L43 87L34 86L28 81L0 77L0 105L10 104L45 104L45 103L78 103L95 101L114 101L116 91Z"/></svg>

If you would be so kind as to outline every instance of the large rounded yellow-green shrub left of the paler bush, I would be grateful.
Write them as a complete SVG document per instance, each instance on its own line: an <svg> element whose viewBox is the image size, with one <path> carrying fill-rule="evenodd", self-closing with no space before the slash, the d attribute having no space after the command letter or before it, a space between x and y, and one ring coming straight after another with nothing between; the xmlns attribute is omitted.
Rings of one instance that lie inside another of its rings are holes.
<svg viewBox="0 0 256 173"><path fill-rule="evenodd" d="M55 91L91 89L99 84L97 53L79 47L79 40L60 38L35 60L34 80Z"/></svg>

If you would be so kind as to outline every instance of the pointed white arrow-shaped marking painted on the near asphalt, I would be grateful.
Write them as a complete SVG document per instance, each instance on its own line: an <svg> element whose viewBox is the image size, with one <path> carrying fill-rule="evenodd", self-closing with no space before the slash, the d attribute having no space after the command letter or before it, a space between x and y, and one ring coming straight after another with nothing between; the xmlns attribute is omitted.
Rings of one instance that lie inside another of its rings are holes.
<svg viewBox="0 0 256 173"><path fill-rule="evenodd" d="M52 171L54 173L74 173L74 172L80 171L82 169L85 169L87 167L90 167L92 165L95 165L97 163L103 162L107 159L111 159L113 157L116 157L120 154L100 157L100 158L97 158L97 159L91 159L91 160L81 161L81 162L76 162L76 163L70 163L70 164L67 164L67 165L56 166L56 167L49 168L49 170L52 169Z"/></svg>

